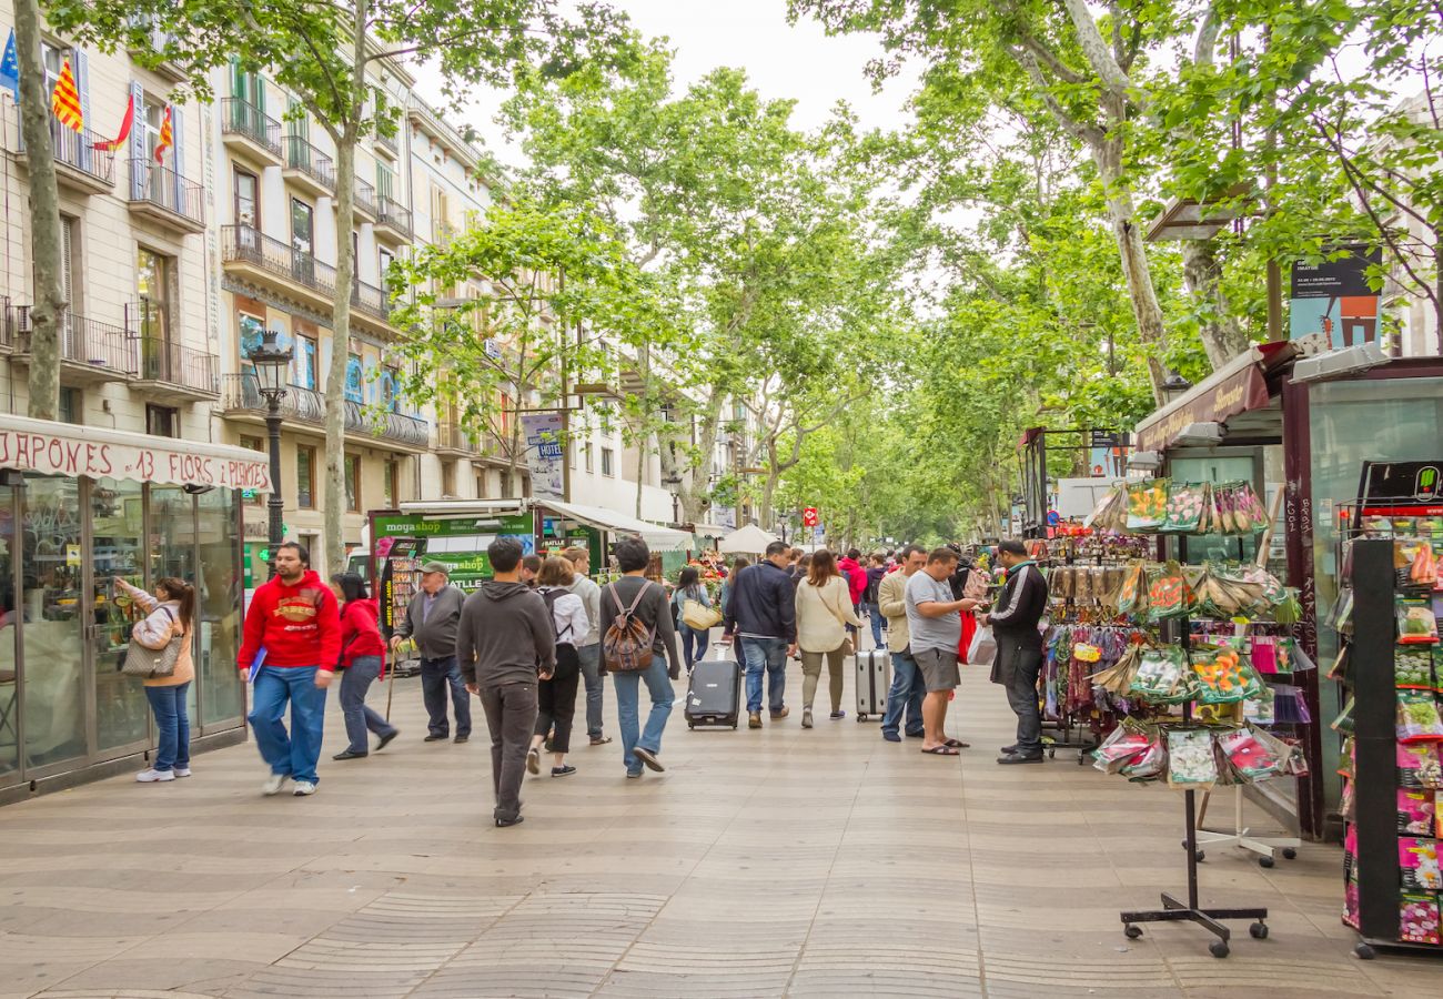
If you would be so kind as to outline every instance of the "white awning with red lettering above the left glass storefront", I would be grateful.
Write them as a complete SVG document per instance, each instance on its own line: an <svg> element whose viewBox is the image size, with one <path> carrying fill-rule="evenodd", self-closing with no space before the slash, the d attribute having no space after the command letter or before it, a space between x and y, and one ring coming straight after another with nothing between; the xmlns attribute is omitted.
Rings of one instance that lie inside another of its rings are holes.
<svg viewBox="0 0 1443 999"><path fill-rule="evenodd" d="M270 492L270 459L248 448L0 417L0 468Z"/></svg>

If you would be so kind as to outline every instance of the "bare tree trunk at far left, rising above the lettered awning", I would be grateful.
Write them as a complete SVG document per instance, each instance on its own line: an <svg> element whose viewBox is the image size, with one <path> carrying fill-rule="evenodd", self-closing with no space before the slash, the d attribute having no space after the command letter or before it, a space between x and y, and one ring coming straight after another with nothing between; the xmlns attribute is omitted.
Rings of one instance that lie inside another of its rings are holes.
<svg viewBox="0 0 1443 999"><path fill-rule="evenodd" d="M26 413L53 420L61 406L61 315L65 263L61 256L61 196L55 186L51 144L51 104L40 62L40 7L16 0L14 48L20 69L20 134L30 175L30 267L35 303L30 307L30 403Z"/></svg>

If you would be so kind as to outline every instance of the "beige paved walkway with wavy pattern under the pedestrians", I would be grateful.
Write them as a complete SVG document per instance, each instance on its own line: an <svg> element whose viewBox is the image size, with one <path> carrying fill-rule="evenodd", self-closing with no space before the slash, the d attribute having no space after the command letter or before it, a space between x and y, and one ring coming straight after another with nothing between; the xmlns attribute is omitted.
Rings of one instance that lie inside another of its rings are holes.
<svg viewBox="0 0 1443 999"><path fill-rule="evenodd" d="M850 683L847 720L811 732L688 732L678 696L665 774L580 748L505 830L483 730L421 743L416 680L367 761L329 761L333 712L313 798L260 797L245 745L0 808L0 996L1437 999L1437 963L1351 957L1328 846L1209 855L1206 902L1271 911L1228 960L1192 927L1124 938L1120 908L1182 888L1180 797L1061 754L996 767L1012 716L980 673L961 761L853 722ZM799 686L794 666L794 707Z"/></svg>

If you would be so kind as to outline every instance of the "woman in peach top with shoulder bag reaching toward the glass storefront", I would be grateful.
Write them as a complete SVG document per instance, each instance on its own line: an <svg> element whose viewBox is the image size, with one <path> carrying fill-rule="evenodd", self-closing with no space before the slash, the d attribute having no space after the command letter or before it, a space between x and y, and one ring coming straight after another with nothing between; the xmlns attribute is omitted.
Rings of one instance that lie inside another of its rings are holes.
<svg viewBox="0 0 1443 999"><path fill-rule="evenodd" d="M195 680L195 661L190 657L195 588L183 579L166 576L156 580L154 596L120 577L115 579L115 589L146 615L144 621L136 622L131 638L154 650L165 648L175 638L182 640L175 671L167 677L144 680L159 741L154 765L136 774L136 780L152 784L190 777L190 719L186 716L185 699Z"/></svg>

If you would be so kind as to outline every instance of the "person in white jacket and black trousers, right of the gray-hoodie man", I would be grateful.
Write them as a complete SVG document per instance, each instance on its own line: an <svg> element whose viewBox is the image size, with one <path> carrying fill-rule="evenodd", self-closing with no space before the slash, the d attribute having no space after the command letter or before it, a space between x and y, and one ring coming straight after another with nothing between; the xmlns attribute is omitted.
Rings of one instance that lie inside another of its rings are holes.
<svg viewBox="0 0 1443 999"><path fill-rule="evenodd" d="M541 772L541 743L551 736L551 752L556 761L551 777L570 777L576 767L566 762L571 751L571 719L576 716L576 684L582 679L582 660L577 645L592 627L586 603L570 592L574 570L569 559L551 556L541 563L537 575L537 592L545 601L556 628L556 671L548 680L537 684L537 725L531 736L531 751L527 754L527 769Z"/></svg>

